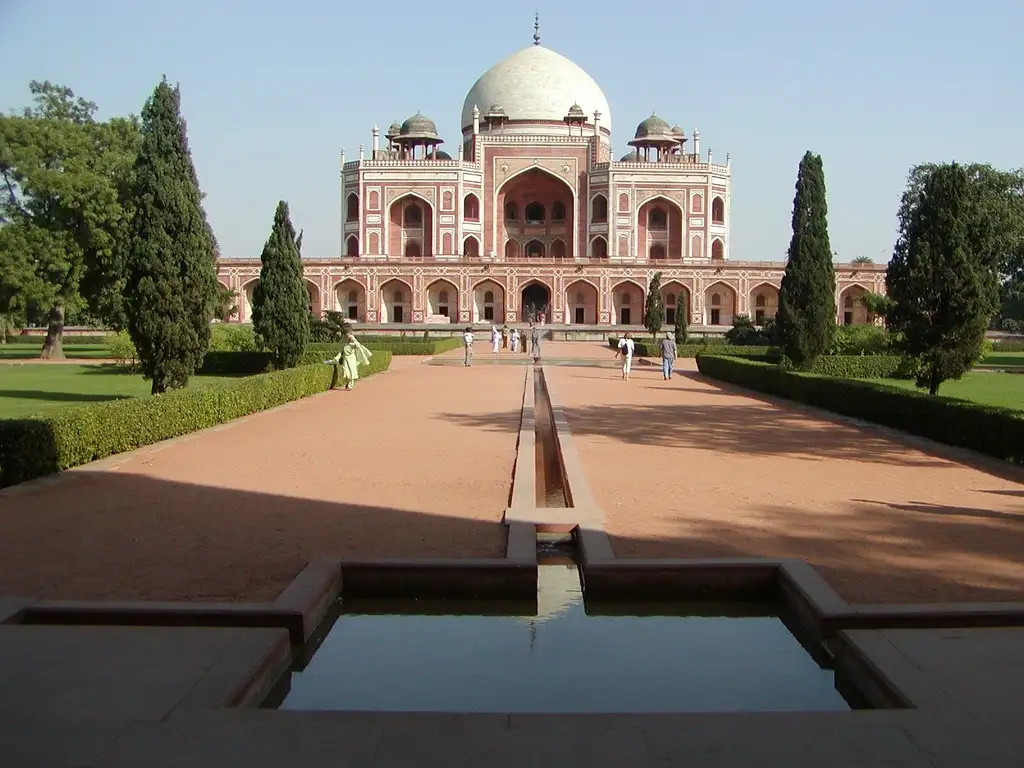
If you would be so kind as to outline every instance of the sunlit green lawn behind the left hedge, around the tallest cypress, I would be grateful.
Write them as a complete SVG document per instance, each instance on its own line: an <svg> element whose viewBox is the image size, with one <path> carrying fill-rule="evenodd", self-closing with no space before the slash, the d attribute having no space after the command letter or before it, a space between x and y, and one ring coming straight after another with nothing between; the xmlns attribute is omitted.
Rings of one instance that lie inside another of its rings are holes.
<svg viewBox="0 0 1024 768"><path fill-rule="evenodd" d="M188 386L203 387L233 377L197 376ZM147 397L150 382L115 366L0 366L0 419L87 402Z"/></svg>

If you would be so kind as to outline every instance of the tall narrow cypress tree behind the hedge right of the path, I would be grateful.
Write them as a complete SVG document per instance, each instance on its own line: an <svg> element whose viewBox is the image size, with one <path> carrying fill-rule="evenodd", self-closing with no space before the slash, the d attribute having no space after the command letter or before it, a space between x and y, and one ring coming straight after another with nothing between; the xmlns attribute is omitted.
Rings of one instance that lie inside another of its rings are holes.
<svg viewBox="0 0 1024 768"><path fill-rule="evenodd" d="M828 242L825 176L821 156L800 161L793 201L793 238L775 317L779 344L797 367L823 354L836 328L836 269Z"/></svg>

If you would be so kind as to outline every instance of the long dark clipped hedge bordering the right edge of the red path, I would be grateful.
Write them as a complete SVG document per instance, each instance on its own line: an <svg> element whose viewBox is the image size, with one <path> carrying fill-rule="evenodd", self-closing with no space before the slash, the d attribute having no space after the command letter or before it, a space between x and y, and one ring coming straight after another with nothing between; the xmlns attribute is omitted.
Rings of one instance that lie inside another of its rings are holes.
<svg viewBox="0 0 1024 768"><path fill-rule="evenodd" d="M1024 464L1024 413L1019 411L884 384L792 373L736 357L699 355L697 369L748 389Z"/></svg>

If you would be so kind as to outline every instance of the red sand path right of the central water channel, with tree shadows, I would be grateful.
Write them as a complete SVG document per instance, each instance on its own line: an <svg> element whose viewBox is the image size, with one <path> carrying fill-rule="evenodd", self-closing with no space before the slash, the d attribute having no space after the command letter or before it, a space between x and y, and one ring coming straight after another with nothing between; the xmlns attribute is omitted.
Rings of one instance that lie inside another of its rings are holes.
<svg viewBox="0 0 1024 768"><path fill-rule="evenodd" d="M852 602L1024 600L1012 467L997 476L696 373L548 376L618 557L799 557Z"/></svg>

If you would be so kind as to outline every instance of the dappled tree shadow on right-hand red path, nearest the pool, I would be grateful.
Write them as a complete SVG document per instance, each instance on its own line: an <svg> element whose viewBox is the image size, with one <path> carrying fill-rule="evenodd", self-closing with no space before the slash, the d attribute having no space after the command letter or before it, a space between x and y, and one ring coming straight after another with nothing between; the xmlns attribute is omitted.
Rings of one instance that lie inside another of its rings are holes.
<svg viewBox="0 0 1024 768"><path fill-rule="evenodd" d="M616 535L616 520L609 531L621 558L804 559L854 603L1024 600L1024 508L1017 515L976 512L862 502L828 510L756 505L742 520L695 509L653 513L657 539Z"/></svg>

